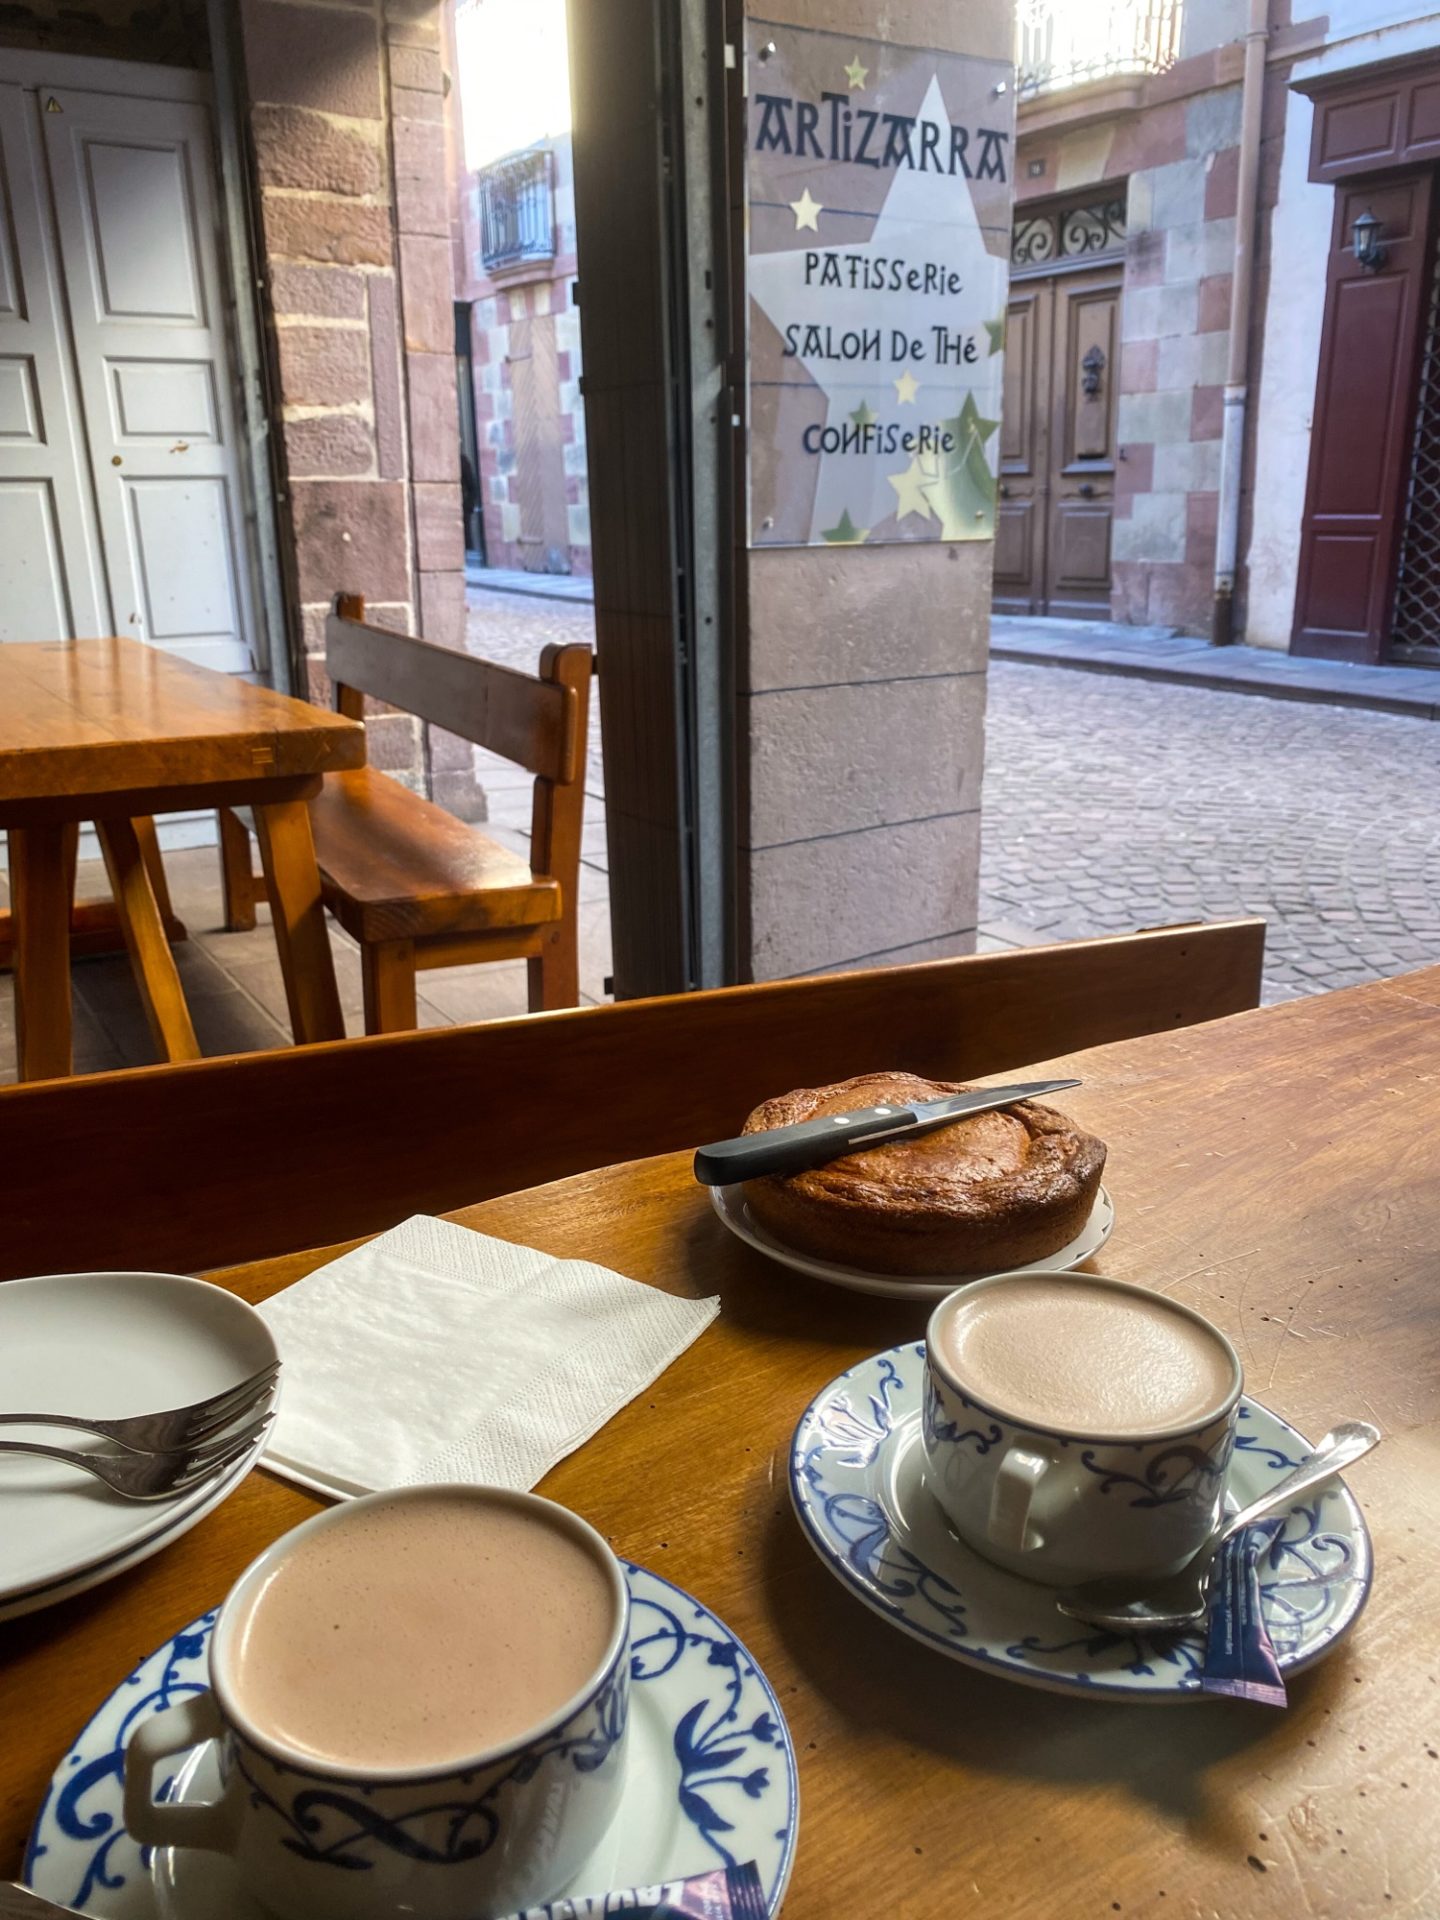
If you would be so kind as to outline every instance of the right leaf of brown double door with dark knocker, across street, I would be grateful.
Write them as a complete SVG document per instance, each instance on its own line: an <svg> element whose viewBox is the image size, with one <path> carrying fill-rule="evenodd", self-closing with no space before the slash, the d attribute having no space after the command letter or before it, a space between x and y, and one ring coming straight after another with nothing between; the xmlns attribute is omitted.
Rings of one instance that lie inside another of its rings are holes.
<svg viewBox="0 0 1440 1920"><path fill-rule="evenodd" d="M1044 603L1110 614L1119 267L1054 282L1052 478Z"/></svg>

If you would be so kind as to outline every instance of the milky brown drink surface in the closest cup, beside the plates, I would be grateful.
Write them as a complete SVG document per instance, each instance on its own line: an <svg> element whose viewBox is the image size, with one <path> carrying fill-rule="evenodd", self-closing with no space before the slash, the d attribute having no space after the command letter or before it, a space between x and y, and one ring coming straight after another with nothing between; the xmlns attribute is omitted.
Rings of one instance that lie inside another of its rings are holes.
<svg viewBox="0 0 1440 1920"><path fill-rule="evenodd" d="M250 1724L340 1766L445 1766L547 1720L614 1630L607 1569L534 1509L455 1490L296 1542L234 1622Z"/></svg>

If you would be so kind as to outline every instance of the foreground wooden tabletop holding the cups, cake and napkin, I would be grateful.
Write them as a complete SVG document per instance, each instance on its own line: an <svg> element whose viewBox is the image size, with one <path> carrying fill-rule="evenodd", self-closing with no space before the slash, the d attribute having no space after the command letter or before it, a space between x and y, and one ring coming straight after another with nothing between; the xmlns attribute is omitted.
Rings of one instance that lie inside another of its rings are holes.
<svg viewBox="0 0 1440 1920"><path fill-rule="evenodd" d="M1308 1434L1342 1415L1386 1434L1350 1475L1375 1534L1373 1599L1292 1682L1286 1713L1029 1692L843 1592L789 1511L791 1430L843 1367L920 1334L925 1309L751 1254L684 1154L455 1215L724 1302L541 1492L716 1607L776 1684L801 1763L787 1920L1434 1914L1440 968L1050 1069L1083 1075L1066 1106L1110 1142L1104 1269L1210 1313L1250 1390ZM321 1258L223 1283L261 1300ZM146 1567L0 1628L0 1874L19 1868L50 1770L100 1699L313 1505L252 1475Z"/></svg>

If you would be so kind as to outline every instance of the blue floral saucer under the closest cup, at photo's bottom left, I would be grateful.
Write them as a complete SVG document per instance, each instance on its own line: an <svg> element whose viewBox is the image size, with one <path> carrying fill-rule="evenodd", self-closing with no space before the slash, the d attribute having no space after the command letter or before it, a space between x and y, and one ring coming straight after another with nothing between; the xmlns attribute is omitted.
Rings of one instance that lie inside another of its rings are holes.
<svg viewBox="0 0 1440 1920"><path fill-rule="evenodd" d="M770 1682L697 1599L626 1567L630 1734L611 1832L566 1893L655 1885L755 1860L768 1912L785 1897L799 1828L795 1747ZM125 1832L121 1776L136 1722L205 1688L213 1613L150 1655L109 1695L56 1768L25 1857L25 1880L96 1920L265 1920L217 1853L154 1855ZM173 1799L211 1799L215 1749L198 1747Z"/></svg>

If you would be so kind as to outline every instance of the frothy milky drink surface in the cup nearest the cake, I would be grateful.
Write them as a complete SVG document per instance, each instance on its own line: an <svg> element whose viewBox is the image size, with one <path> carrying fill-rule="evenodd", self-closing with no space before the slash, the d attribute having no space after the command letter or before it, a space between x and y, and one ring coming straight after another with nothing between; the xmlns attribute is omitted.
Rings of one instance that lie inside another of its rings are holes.
<svg viewBox="0 0 1440 1920"><path fill-rule="evenodd" d="M1035 1275L962 1296L941 1359L973 1400L1058 1432L1131 1438L1219 1413L1235 1365L1219 1332L1162 1294Z"/></svg>

